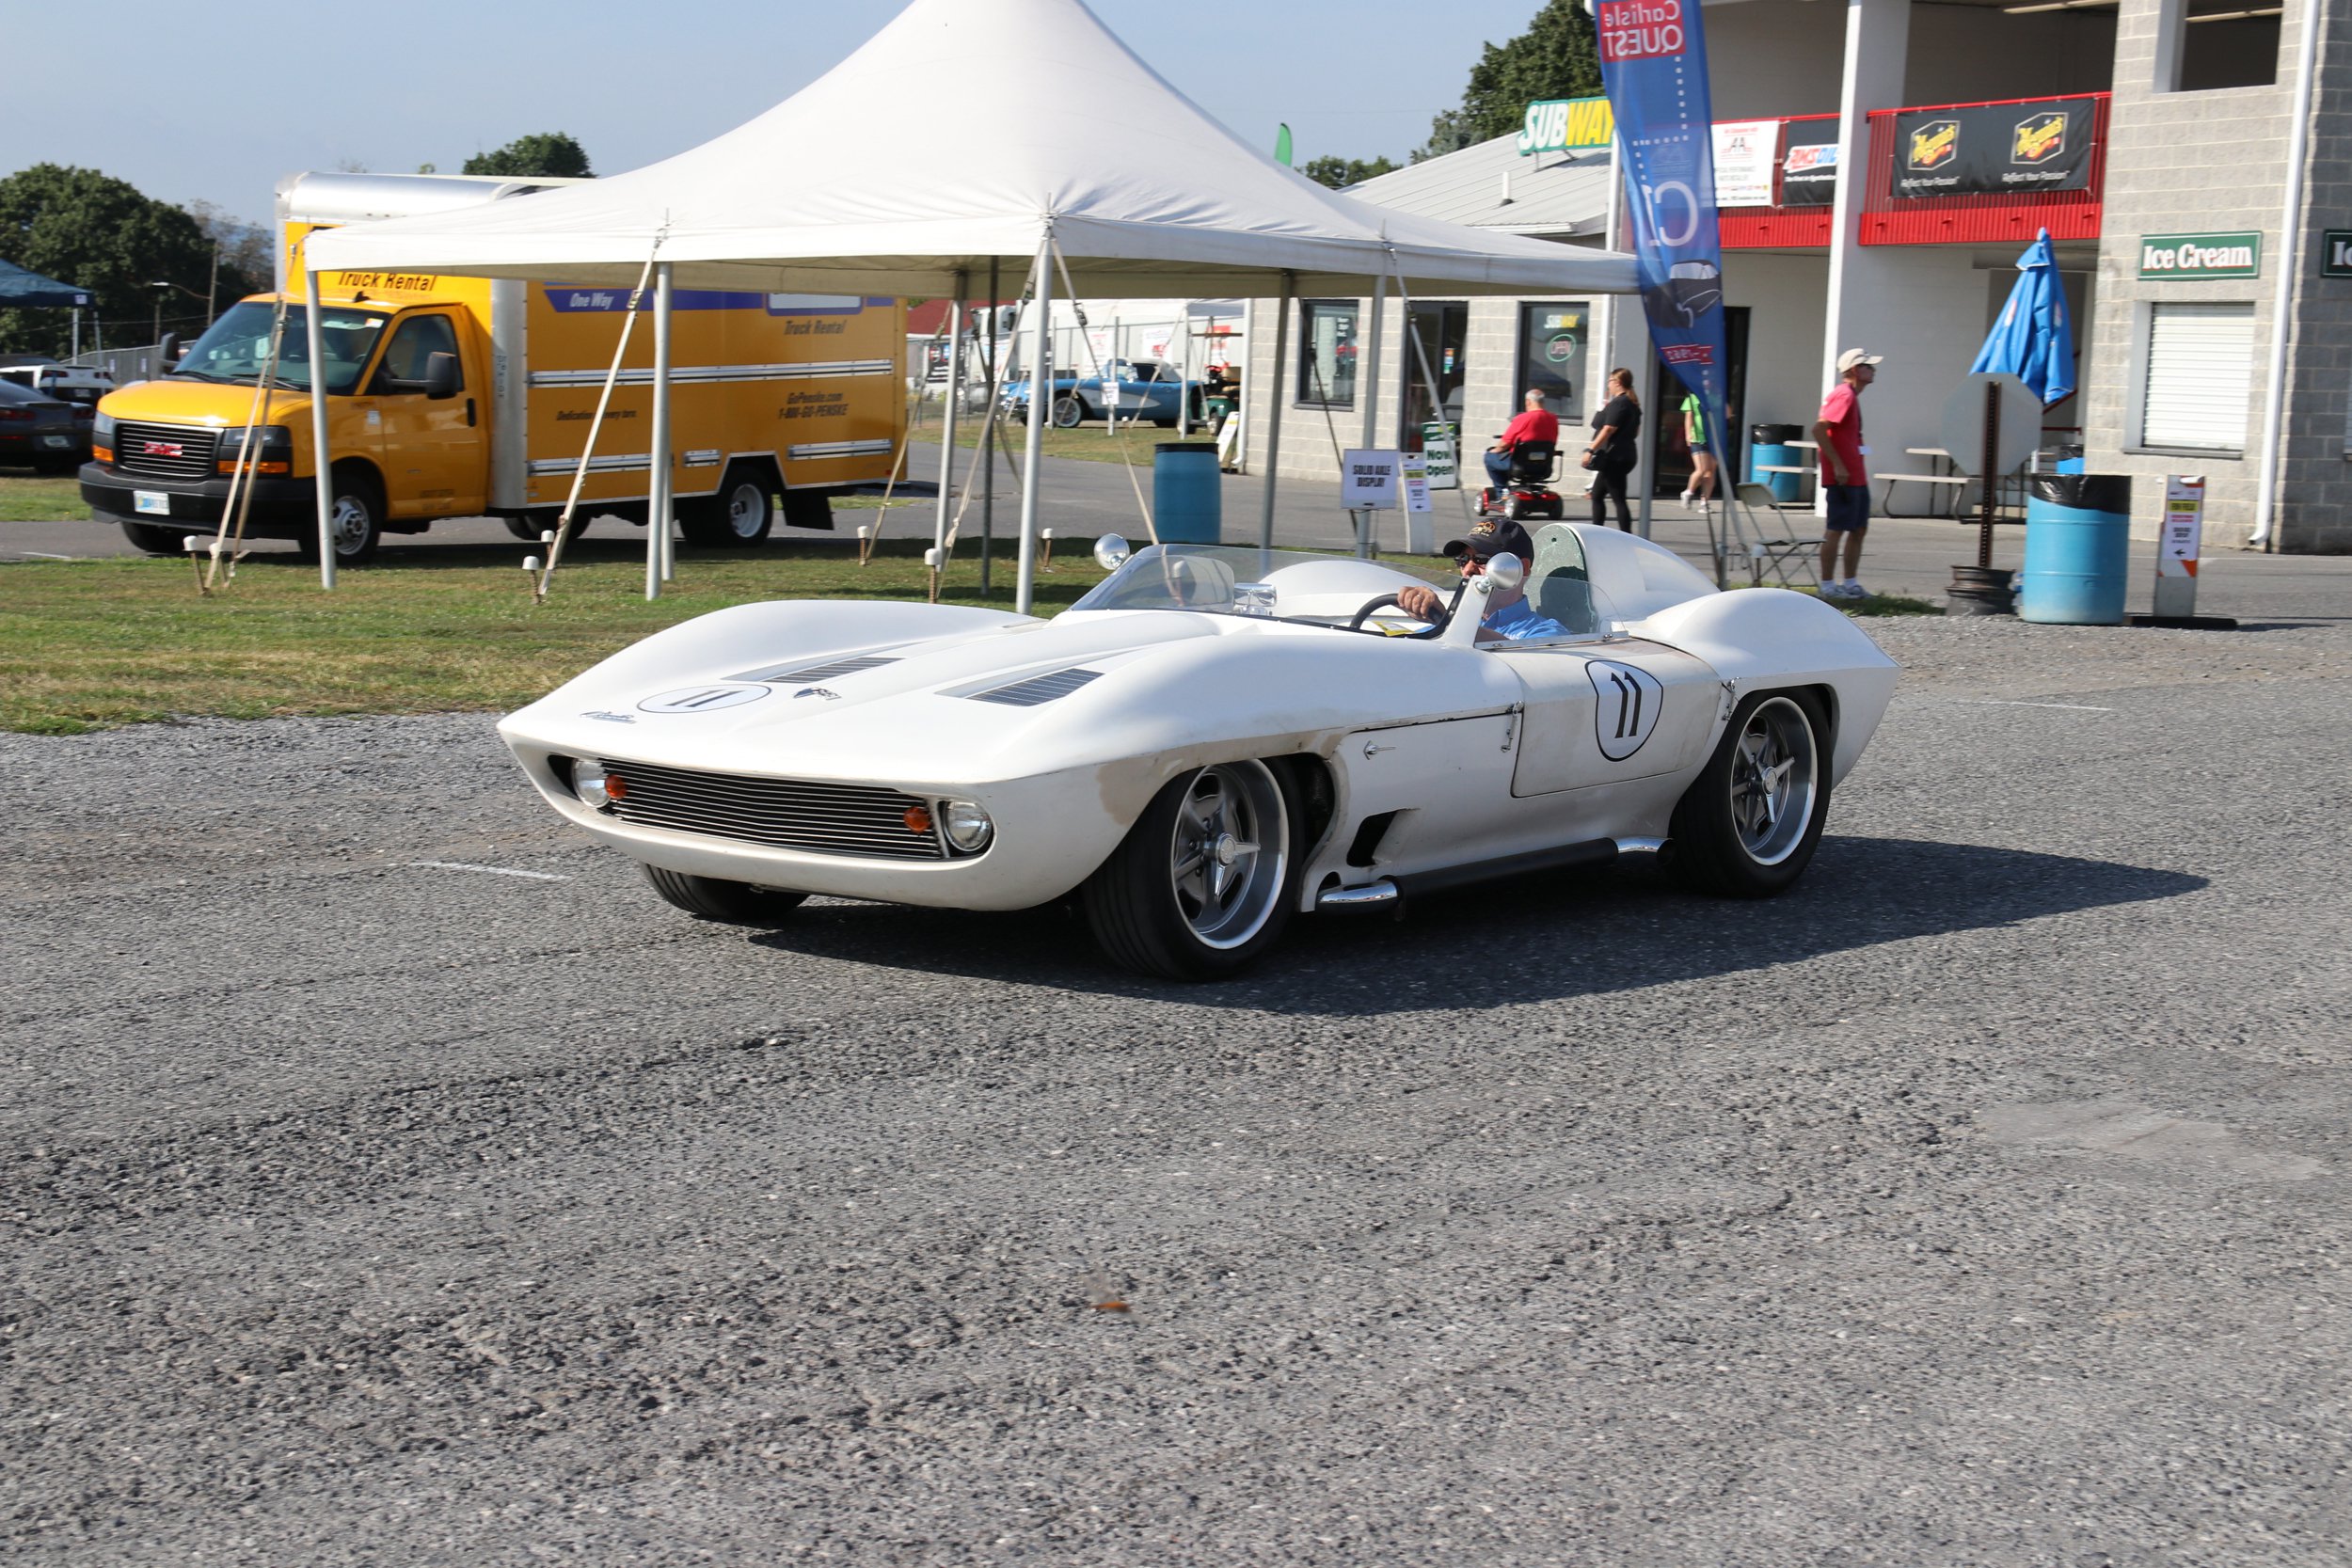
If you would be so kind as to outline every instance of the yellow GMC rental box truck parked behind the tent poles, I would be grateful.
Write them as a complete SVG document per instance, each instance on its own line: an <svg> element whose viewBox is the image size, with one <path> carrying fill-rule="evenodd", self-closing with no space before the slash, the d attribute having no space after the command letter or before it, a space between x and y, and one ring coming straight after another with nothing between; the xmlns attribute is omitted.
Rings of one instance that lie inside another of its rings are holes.
<svg viewBox="0 0 2352 1568"><path fill-rule="evenodd" d="M296 174L280 186L278 369L254 428L247 536L318 550L310 395L327 395L334 552L374 555L383 534L442 517L503 517L517 538L555 524L604 388L628 289L327 273L325 364L308 357L301 240L313 228L529 200L567 181L423 174ZM82 501L155 555L212 534L270 353L278 294L230 306L158 381L99 402ZM640 306L652 313L652 289ZM830 529L830 496L887 480L906 440L896 299L677 289L670 331L670 461L689 543ZM315 371L315 374L313 374ZM647 520L654 324L630 334L576 520Z"/></svg>

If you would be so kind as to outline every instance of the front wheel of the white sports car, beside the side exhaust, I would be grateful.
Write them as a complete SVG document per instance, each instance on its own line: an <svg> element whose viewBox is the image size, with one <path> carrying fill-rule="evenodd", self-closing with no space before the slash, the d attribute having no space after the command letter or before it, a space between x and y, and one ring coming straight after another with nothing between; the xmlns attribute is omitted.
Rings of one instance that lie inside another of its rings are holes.
<svg viewBox="0 0 2352 1568"><path fill-rule="evenodd" d="M1216 980L1258 961L1291 919L1298 802L1263 762L1169 780L1082 889L1110 961L1169 980Z"/></svg>

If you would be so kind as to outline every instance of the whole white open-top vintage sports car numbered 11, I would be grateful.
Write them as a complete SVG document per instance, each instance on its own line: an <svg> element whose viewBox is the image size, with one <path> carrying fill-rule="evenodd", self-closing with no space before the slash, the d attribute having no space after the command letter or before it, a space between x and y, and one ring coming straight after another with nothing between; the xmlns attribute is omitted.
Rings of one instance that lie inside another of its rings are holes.
<svg viewBox="0 0 2352 1568"><path fill-rule="evenodd" d="M1837 609L1717 592L1588 524L1468 581L1218 545L1127 557L1115 536L1098 557L1112 576L1051 621L722 609L499 731L548 804L689 914L1077 893L1117 964L1211 978L1301 912L1628 851L1710 893L1778 893L1896 682ZM1430 581L1454 592L1435 625L1395 604ZM1482 639L1515 592L1557 635Z"/></svg>

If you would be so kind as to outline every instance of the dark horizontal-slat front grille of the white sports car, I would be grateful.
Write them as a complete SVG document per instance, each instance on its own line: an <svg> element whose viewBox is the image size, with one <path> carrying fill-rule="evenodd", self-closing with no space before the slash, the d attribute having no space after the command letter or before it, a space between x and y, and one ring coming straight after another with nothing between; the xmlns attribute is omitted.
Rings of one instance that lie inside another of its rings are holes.
<svg viewBox="0 0 2352 1568"><path fill-rule="evenodd" d="M637 827L706 832L717 839L774 844L816 856L948 858L936 832L917 835L906 825L908 809L929 809L929 802L898 790L804 778L696 773L612 757L602 762L607 773L621 776L628 785L614 816Z"/></svg>

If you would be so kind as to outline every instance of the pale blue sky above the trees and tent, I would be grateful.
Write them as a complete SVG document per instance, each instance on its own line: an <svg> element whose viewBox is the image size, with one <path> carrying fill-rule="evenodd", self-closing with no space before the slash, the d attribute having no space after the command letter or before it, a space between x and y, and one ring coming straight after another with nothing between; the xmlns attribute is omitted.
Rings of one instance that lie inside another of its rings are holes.
<svg viewBox="0 0 2352 1568"><path fill-rule="evenodd" d="M1461 101L1479 45L1519 33L1541 0L1091 5L1244 139L1272 148L1275 122L1289 120L1301 162L1324 153L1402 162L1430 115ZM209 200L254 221L270 216L280 174L343 162L381 172L430 162L454 174L470 153L527 132L572 132L600 174L619 174L788 99L898 9L898 0L14 7L9 75L28 92L0 129L0 174L82 165L167 202ZM35 87L35 61L54 63L54 92ZM910 106L920 92L908 85ZM1082 103L1073 82L1075 122L1101 125Z"/></svg>

